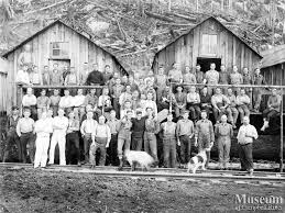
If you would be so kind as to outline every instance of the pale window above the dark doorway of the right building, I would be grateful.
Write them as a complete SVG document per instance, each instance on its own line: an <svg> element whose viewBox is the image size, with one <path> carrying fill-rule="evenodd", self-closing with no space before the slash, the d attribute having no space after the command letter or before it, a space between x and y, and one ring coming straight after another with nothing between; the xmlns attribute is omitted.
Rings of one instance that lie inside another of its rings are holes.
<svg viewBox="0 0 285 213"><path fill-rule="evenodd" d="M201 55L217 55L218 36L204 34L201 38Z"/></svg>

